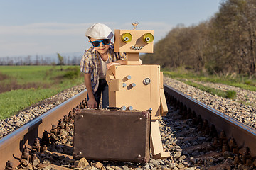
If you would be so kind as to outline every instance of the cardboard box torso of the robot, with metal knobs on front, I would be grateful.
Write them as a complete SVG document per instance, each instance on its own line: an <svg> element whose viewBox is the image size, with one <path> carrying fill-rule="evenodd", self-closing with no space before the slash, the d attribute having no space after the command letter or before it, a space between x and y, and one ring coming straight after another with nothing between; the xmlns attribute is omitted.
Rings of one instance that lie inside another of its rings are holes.
<svg viewBox="0 0 256 170"><path fill-rule="evenodd" d="M114 81L110 74L113 74ZM128 79L129 77L130 79ZM150 79L149 84L144 79ZM110 67L107 74L110 107L132 106L134 110L152 108L151 118L161 115L159 65L119 65ZM124 84L124 85L123 85Z"/></svg>

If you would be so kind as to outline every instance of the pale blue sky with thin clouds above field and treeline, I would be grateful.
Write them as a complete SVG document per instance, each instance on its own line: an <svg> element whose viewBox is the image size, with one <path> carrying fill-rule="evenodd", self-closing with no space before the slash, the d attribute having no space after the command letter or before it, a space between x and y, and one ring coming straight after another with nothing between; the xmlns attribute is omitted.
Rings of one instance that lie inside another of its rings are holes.
<svg viewBox="0 0 256 170"><path fill-rule="evenodd" d="M198 24L223 0L0 0L0 57L84 52L92 23L114 29L154 30L154 42L178 23ZM112 39L114 40L114 39Z"/></svg>

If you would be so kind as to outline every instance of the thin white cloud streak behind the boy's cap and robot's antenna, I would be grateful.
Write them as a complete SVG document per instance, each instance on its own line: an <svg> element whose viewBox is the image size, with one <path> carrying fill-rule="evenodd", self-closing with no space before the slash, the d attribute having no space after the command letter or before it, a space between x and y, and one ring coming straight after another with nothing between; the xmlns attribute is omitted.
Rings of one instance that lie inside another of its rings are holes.
<svg viewBox="0 0 256 170"><path fill-rule="evenodd" d="M114 29L132 29L131 23L105 23ZM0 35L84 35L92 23L31 23L23 26L0 26ZM139 30L155 30L156 33L168 32L171 25L163 22L145 22L139 24ZM162 33L161 33L162 34Z"/></svg>

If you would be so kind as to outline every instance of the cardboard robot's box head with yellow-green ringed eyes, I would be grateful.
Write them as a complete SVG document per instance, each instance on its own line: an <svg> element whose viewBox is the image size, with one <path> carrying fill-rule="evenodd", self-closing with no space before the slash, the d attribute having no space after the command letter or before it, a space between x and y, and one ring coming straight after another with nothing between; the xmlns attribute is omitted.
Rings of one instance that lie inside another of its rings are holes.
<svg viewBox="0 0 256 170"><path fill-rule="evenodd" d="M114 52L153 53L154 30L114 30Z"/></svg>

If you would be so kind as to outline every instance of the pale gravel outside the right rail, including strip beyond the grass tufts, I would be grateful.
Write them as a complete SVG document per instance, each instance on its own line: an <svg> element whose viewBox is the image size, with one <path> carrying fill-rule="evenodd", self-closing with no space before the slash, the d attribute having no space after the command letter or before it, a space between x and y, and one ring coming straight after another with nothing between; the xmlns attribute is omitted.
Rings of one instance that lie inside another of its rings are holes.
<svg viewBox="0 0 256 170"><path fill-rule="evenodd" d="M256 108L250 105L245 105L242 103L238 103L238 101L233 101L228 98L218 97L212 94L209 94L205 91L201 91L200 89L196 89L193 86L189 86L181 81L176 79L171 79L169 77L164 77L164 83L168 86L181 91L183 94L191 96L202 103L210 106L211 108L215 108L216 110L224 113L236 120L244 123L245 125L250 126L251 128L256 128ZM228 85L225 84L210 84L210 86L218 89L227 89ZM255 91L245 91L240 88L234 88L230 86L228 89L235 89L237 92L237 98L242 98L242 96L249 96L249 94L255 94ZM249 101L253 102L254 97L248 99Z"/></svg>

